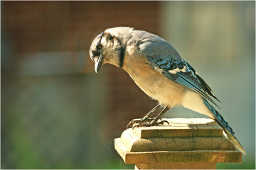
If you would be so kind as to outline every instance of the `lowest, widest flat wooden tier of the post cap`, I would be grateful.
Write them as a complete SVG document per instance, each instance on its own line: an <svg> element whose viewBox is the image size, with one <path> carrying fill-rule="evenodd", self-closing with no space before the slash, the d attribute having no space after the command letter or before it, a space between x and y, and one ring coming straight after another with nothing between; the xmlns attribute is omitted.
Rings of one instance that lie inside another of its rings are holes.
<svg viewBox="0 0 256 170"><path fill-rule="evenodd" d="M242 162L242 153L238 150L196 150L196 151L154 151L128 152L122 140L114 140L114 148L126 164L152 164L157 162Z"/></svg>

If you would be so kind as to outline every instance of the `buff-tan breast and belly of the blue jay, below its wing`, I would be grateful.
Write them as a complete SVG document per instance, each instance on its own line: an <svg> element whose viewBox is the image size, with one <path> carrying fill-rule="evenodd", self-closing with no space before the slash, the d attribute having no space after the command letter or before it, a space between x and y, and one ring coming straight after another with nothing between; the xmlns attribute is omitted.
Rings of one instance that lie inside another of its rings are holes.
<svg viewBox="0 0 256 170"><path fill-rule="evenodd" d="M138 60L130 57L129 61L124 59L123 69L142 91L159 103L169 108L181 105L185 95L183 86L156 72L143 58Z"/></svg>

